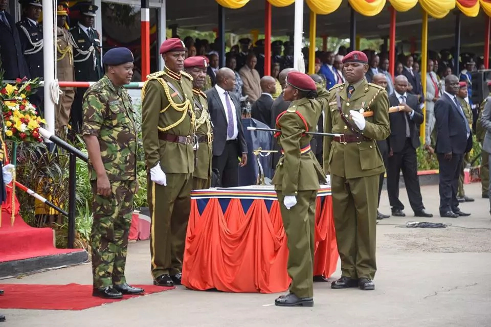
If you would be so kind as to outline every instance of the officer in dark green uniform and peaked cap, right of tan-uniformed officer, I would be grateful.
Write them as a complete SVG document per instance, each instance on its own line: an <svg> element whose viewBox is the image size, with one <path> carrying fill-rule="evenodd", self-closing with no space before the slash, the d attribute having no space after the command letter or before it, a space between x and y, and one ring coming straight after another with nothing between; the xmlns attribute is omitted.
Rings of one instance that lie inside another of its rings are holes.
<svg viewBox="0 0 491 327"><path fill-rule="evenodd" d="M99 7L90 3L82 3L79 8L80 21L70 29L74 41L75 80L77 82L96 82L103 75L101 64L102 40L99 33L92 28ZM72 105L71 126L76 133L79 133L82 126L82 99L86 90L83 87L77 88Z"/></svg>

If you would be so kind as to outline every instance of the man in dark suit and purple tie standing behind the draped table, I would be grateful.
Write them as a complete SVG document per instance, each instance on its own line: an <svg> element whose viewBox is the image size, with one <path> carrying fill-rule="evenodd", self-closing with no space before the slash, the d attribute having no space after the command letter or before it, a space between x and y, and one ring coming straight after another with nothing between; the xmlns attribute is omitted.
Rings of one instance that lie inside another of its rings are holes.
<svg viewBox="0 0 491 327"><path fill-rule="evenodd" d="M216 73L216 85L206 92L213 124L212 168L224 188L239 184L239 166L247 165L247 144L240 115L240 102L233 93L235 73L224 67ZM241 156L240 162L237 157Z"/></svg>

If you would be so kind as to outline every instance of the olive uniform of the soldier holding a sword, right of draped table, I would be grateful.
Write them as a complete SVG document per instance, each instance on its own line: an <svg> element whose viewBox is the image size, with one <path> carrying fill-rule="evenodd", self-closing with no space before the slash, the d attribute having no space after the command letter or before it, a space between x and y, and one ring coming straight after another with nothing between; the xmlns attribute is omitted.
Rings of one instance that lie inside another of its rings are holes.
<svg viewBox="0 0 491 327"><path fill-rule="evenodd" d="M384 161L375 141L390 134L389 101L382 87L363 78L353 84L348 98L348 83L334 85L329 90L325 109L326 133L352 135L338 111L339 94L342 112L373 111L366 118L361 135L369 141L341 143L332 137L324 139L324 170L331 174L332 208L342 276L352 279L373 279L376 271L375 241L378 202L378 178L384 172ZM354 122L349 119L356 128ZM342 140L341 140L342 141Z"/></svg>

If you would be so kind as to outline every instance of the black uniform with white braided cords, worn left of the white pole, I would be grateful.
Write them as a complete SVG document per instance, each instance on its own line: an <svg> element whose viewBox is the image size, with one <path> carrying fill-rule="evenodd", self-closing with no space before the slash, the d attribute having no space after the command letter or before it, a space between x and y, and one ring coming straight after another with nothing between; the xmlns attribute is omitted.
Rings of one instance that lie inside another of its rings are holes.
<svg viewBox="0 0 491 327"><path fill-rule="evenodd" d="M42 26L34 24L28 18L24 17L15 24L19 31L20 43L29 68L31 78L44 76L44 63L42 53ZM35 45L33 45L35 44ZM29 101L43 110L44 89L39 87L35 94L29 97Z"/></svg>

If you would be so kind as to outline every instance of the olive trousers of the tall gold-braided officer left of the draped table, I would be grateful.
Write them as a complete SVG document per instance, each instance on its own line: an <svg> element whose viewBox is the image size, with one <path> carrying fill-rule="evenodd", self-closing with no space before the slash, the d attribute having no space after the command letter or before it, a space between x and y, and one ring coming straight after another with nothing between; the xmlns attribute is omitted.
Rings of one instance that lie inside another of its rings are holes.
<svg viewBox="0 0 491 327"><path fill-rule="evenodd" d="M148 176L151 272L153 278L183 269L184 245L191 211L191 174L165 174L167 186Z"/></svg>

